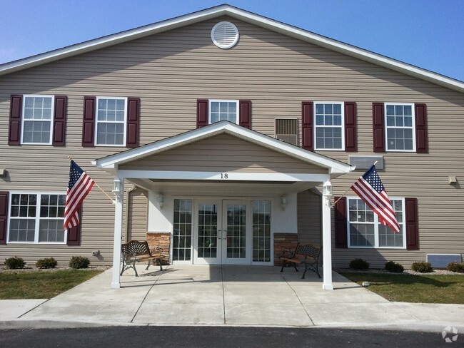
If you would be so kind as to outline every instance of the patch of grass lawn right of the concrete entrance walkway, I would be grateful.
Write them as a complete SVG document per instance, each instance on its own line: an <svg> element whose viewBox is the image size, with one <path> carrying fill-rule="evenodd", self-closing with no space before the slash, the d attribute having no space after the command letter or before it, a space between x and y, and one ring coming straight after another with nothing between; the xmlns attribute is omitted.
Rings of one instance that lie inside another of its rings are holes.
<svg viewBox="0 0 464 348"><path fill-rule="evenodd" d="M410 275L342 272L343 277L396 302L464 304L464 275Z"/></svg>

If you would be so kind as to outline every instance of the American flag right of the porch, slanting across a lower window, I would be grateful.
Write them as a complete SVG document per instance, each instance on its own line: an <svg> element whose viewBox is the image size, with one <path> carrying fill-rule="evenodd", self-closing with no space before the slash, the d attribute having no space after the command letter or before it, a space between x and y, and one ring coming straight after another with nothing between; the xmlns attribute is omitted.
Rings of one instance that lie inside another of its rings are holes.
<svg viewBox="0 0 464 348"><path fill-rule="evenodd" d="M380 180L377 170L375 170L375 165L370 167L370 169L351 186L351 190L378 215L382 225L390 226L395 233L400 232L400 225L398 225L398 220L391 206L387 191L385 191L383 187L382 180Z"/></svg>

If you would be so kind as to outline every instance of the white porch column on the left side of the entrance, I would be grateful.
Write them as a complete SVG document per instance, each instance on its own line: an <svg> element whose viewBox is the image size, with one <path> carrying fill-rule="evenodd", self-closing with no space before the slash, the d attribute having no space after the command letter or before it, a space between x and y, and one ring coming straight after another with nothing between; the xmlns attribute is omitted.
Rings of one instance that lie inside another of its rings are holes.
<svg viewBox="0 0 464 348"><path fill-rule="evenodd" d="M114 179L113 193L116 196L114 206L114 244L113 244L113 277L111 287L118 289L121 287L121 239L123 232L123 178Z"/></svg>

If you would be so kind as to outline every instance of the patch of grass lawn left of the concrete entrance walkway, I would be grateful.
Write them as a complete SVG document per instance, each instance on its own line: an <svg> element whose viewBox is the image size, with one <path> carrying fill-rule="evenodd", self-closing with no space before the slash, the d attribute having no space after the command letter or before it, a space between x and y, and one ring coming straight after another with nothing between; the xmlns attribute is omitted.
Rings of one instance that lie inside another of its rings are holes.
<svg viewBox="0 0 464 348"><path fill-rule="evenodd" d="M0 300L49 299L99 275L101 270L1 272Z"/></svg>

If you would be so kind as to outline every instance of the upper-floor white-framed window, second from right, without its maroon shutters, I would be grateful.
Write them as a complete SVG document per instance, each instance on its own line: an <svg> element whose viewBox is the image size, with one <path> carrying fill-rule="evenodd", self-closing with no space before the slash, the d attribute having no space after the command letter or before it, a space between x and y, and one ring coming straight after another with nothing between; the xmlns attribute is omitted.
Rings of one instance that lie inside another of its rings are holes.
<svg viewBox="0 0 464 348"><path fill-rule="evenodd" d="M316 150L345 150L343 103L314 103Z"/></svg>

